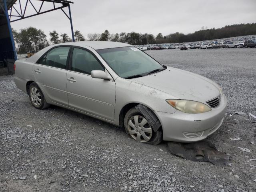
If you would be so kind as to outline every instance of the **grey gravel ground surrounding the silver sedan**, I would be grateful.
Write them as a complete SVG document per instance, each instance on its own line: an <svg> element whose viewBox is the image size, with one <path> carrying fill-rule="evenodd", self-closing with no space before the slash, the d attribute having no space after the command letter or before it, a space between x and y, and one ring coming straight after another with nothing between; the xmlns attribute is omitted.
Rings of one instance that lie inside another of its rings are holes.
<svg viewBox="0 0 256 192"><path fill-rule="evenodd" d="M140 144L118 127L64 108L37 110L13 76L0 76L0 191L255 192L256 160L248 160L256 158L256 123L247 113L256 115L256 49L147 53L223 87L228 114L208 140L232 156L232 166L184 160L166 142Z"/></svg>

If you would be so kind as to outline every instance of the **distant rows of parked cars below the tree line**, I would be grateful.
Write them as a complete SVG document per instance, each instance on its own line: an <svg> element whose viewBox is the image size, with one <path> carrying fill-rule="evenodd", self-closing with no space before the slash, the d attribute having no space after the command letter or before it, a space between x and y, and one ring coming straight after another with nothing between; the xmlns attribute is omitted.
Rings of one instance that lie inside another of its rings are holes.
<svg viewBox="0 0 256 192"><path fill-rule="evenodd" d="M160 50L160 49L215 49L215 48L256 48L256 36L252 39L234 39L232 40L222 40L222 41L212 41L212 42L192 42L184 44L152 44L152 45L139 45L136 46L140 50Z"/></svg>

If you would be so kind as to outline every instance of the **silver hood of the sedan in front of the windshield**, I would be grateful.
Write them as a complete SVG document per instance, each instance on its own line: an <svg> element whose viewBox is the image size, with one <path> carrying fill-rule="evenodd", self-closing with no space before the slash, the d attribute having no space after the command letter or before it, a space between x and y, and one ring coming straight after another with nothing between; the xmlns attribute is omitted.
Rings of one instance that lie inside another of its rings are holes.
<svg viewBox="0 0 256 192"><path fill-rule="evenodd" d="M178 98L205 103L220 95L219 86L212 80L172 67L167 67L166 70L158 73L129 80L166 92L170 94L170 99Z"/></svg>

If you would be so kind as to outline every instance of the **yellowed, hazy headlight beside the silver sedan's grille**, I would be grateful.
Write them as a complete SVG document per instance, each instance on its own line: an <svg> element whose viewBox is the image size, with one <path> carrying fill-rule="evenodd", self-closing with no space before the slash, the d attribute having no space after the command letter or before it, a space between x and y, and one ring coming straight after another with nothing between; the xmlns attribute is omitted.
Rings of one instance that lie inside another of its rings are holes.
<svg viewBox="0 0 256 192"><path fill-rule="evenodd" d="M208 105L190 100L167 99L171 106L184 113L204 113L212 110Z"/></svg>

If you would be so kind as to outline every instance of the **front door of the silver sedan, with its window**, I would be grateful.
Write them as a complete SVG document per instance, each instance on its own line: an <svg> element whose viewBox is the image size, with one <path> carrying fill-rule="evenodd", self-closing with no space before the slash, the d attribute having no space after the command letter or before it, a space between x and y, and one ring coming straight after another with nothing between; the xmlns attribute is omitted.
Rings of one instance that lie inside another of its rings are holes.
<svg viewBox="0 0 256 192"><path fill-rule="evenodd" d="M116 84L113 80L91 77L92 70L105 70L92 52L74 48L71 71L67 72L66 84L69 106L77 110L114 120Z"/></svg>

